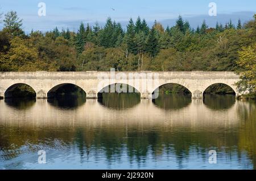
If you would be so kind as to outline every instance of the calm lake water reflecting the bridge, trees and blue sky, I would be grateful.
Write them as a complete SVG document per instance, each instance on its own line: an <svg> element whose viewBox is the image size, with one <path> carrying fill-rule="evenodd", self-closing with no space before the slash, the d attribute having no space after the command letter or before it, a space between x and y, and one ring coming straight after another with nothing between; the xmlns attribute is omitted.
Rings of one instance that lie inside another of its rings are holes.
<svg viewBox="0 0 256 181"><path fill-rule="evenodd" d="M232 95L6 99L0 115L0 169L256 169L256 103Z"/></svg>

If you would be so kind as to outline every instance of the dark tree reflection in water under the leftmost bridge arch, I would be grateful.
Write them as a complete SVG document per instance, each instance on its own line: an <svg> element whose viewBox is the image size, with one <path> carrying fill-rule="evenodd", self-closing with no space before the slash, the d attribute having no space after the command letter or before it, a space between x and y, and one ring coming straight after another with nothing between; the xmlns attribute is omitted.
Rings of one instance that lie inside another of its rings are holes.
<svg viewBox="0 0 256 181"><path fill-rule="evenodd" d="M5 99L5 103L13 107L15 109L19 110L26 110L28 108L31 108L36 102L35 98L10 98L10 99Z"/></svg>

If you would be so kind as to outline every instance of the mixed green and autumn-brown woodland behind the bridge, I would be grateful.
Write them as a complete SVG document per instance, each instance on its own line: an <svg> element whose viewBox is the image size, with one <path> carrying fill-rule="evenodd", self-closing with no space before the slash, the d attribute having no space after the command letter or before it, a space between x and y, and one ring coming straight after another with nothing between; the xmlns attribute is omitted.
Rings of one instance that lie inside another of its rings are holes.
<svg viewBox="0 0 256 181"><path fill-rule="evenodd" d="M3 18L0 71L237 71L241 92L256 89L256 15L215 28L204 20L195 30L181 16L167 28L138 17L124 29L108 18L104 27L81 23L77 32L56 27L27 35L15 11Z"/></svg>

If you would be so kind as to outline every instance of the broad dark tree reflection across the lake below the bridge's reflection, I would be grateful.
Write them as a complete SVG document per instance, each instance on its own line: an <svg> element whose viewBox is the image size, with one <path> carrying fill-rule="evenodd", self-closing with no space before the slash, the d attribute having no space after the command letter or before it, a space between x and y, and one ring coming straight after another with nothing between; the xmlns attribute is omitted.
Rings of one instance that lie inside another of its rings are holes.
<svg viewBox="0 0 256 181"><path fill-rule="evenodd" d="M219 129L202 129L194 132L191 129L180 128L174 130L166 127L141 128L123 125L114 127L113 125L101 125L100 127L76 127L61 128L46 127L36 129L34 127L20 129L6 128L1 130L0 148L4 153L10 149L13 154L7 154L7 158L15 158L20 154L19 148L23 145L45 145L47 148L61 149L62 146L72 149L76 145L80 150L80 155L93 153L93 151L103 150L106 159L121 158L124 151L130 160L136 158L138 163L144 162L149 154L162 155L167 151L173 151L176 158L181 163L186 155L193 151L202 153L214 147L221 149L226 147L228 153L234 151L232 146L237 145L238 135L232 132L221 132ZM221 132L221 133L220 133ZM52 140L52 141L49 141ZM55 145L54 140L63 143ZM252 143L252 142L251 142ZM13 147L15 145L15 147ZM38 149L30 146L30 150ZM94 153L95 153L94 152Z"/></svg>

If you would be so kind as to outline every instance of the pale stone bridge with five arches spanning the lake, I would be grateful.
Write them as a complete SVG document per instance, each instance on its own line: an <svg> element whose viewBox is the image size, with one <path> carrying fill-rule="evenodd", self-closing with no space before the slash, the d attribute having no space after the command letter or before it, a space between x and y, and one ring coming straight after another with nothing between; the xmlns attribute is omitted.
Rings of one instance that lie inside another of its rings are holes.
<svg viewBox="0 0 256 181"><path fill-rule="evenodd" d="M86 92L86 98L97 98L104 87L123 83L134 87L141 93L142 99L151 99L158 87L168 83L176 83L186 87L193 99L203 98L204 91L211 85L223 83L232 87L236 95L239 93L234 83L240 76L230 71L170 71L170 72L0 72L0 96L11 97L11 90L20 84L31 86L36 98L47 98L60 86L72 84ZM127 90L128 91L128 90Z"/></svg>

